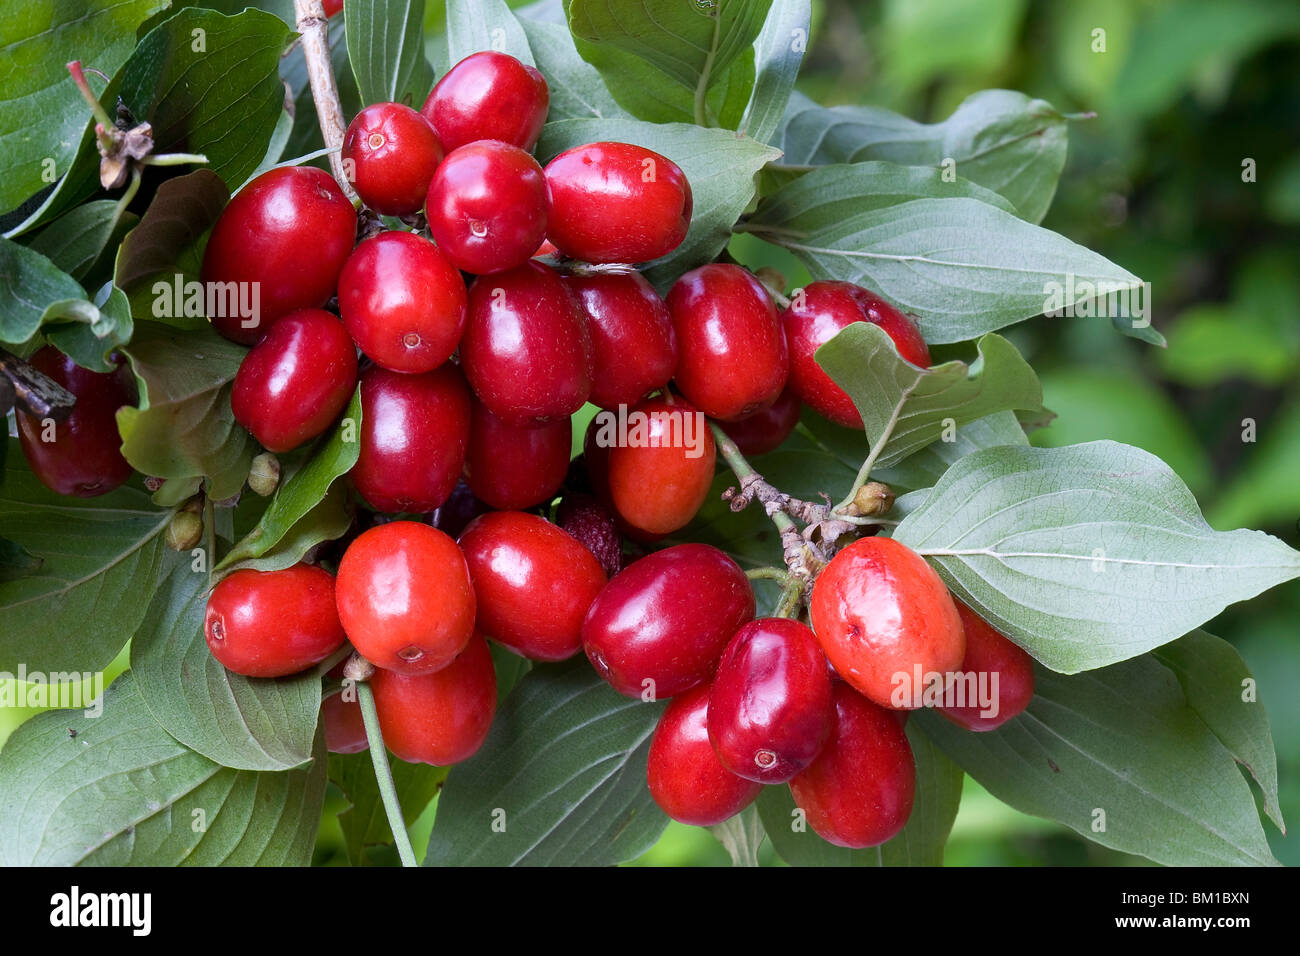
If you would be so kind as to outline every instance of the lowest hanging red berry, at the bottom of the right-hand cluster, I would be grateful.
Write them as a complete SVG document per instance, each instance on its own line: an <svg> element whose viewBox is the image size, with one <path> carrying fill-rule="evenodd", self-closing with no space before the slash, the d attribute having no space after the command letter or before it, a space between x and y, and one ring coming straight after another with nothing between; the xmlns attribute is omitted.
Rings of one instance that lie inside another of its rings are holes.
<svg viewBox="0 0 1300 956"><path fill-rule="evenodd" d="M836 682L831 737L790 795L809 826L837 847L878 847L911 816L916 763L902 722Z"/></svg>

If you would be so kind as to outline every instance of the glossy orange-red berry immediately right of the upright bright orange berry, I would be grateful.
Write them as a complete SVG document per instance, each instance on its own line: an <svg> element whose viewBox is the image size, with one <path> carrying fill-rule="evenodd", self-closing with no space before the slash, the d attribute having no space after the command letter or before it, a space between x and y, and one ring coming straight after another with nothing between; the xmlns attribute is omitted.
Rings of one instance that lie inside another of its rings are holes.
<svg viewBox="0 0 1300 956"><path fill-rule="evenodd" d="M493 511L460 536L478 598L477 630L530 661L582 648L582 619L604 571L572 535L545 518Z"/></svg>

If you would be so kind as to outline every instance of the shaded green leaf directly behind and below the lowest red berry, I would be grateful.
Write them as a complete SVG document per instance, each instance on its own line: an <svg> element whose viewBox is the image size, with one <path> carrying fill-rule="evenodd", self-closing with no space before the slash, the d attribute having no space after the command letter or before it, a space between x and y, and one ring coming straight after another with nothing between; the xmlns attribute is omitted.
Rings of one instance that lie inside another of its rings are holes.
<svg viewBox="0 0 1300 956"><path fill-rule="evenodd" d="M796 814L789 787L764 787L758 812L777 855L790 866L942 866L944 844L962 801L962 770L914 721L907 721L907 740L916 761L916 796L902 832L867 849L836 847Z"/></svg>

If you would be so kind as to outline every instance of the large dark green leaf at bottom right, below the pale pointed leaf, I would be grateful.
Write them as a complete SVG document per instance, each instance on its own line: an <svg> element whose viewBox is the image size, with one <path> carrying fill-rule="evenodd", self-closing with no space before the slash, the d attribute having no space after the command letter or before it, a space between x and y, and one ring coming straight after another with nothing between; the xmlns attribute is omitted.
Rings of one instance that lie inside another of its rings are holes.
<svg viewBox="0 0 1300 956"><path fill-rule="evenodd" d="M1105 847L1170 866L1275 864L1232 754L1150 657L1039 667L1028 709L994 731L913 721L998 800Z"/></svg>

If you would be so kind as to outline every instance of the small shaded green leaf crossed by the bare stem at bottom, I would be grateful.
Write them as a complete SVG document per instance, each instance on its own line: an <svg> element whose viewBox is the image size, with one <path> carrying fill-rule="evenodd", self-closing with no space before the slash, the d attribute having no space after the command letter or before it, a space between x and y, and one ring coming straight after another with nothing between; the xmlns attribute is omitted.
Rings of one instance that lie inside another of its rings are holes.
<svg viewBox="0 0 1300 956"><path fill-rule="evenodd" d="M411 826L438 795L442 782L447 778L447 767L407 763L393 754L389 754L389 766L393 770L398 803L402 805L402 818ZM364 866L368 861L367 848L393 843L393 829L389 826L389 816L380 796L380 784L374 779L374 761L370 752L332 753L329 779L338 784L350 804L338 814L347 860L352 866Z"/></svg>

